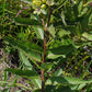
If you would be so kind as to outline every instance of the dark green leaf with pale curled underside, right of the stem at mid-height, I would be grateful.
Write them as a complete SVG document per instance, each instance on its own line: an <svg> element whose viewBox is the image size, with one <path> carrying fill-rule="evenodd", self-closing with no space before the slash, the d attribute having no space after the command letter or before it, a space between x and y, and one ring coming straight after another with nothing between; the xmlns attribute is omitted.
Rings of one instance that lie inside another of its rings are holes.
<svg viewBox="0 0 92 92"><path fill-rule="evenodd" d="M48 50L48 55L47 58L49 59L55 59L58 57L66 57L66 55L68 55L69 53L71 53L74 49L74 47L72 45L62 45L56 48L53 48L50 50Z"/></svg>

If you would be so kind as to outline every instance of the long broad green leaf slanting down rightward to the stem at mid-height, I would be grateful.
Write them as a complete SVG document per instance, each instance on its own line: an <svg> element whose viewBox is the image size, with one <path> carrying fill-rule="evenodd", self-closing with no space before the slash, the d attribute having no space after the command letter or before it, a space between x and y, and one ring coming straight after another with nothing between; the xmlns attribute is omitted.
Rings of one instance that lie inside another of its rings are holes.
<svg viewBox="0 0 92 92"><path fill-rule="evenodd" d="M16 49L21 50L25 56L27 56L32 60L41 61L41 55L37 54L36 50L39 50L42 48L39 48L36 44L15 41L14 38L10 37L3 37L3 39L9 42Z"/></svg>

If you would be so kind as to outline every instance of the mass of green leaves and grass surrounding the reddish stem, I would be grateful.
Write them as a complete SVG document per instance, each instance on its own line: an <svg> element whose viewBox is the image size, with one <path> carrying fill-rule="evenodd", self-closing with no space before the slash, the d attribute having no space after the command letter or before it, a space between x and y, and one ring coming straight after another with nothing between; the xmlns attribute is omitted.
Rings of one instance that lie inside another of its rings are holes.
<svg viewBox="0 0 92 92"><path fill-rule="evenodd" d="M33 0L1 0L0 38L5 42L8 54L18 49L20 58L20 67L5 69L4 73L26 78L32 89L21 87L32 92L41 92L43 77L43 92L90 92L91 3L91 0L48 0L46 9L42 9ZM4 74L0 83L5 87L5 81ZM16 79L14 85L19 87Z"/></svg>

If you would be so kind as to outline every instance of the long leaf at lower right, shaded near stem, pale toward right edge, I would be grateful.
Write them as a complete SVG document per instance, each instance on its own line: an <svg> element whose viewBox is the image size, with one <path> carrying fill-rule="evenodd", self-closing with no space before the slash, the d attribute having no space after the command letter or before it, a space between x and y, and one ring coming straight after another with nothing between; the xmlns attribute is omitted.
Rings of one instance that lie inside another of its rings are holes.
<svg viewBox="0 0 92 92"><path fill-rule="evenodd" d="M46 84L85 84L92 83L92 80L81 80L78 78L70 78L70 77L53 77L46 81Z"/></svg>

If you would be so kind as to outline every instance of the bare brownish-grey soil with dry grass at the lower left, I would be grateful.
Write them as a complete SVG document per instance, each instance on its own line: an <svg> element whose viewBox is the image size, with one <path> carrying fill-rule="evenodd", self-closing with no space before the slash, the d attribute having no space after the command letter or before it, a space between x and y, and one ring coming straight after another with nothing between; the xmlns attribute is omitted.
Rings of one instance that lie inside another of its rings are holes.
<svg viewBox="0 0 92 92"><path fill-rule="evenodd" d="M4 79L4 70L7 68L13 68L13 69L16 69L19 67L19 62L20 62L20 59L18 57L18 51L15 51L14 55L12 54L7 54L4 50L3 50L3 41L0 39L0 81L7 81L7 82L14 82L16 76L10 73L10 72L7 72L7 79ZM16 80L16 83L20 83L20 84L23 84L25 87L28 87L30 88L30 84L26 82L26 79L22 78L22 77L18 77L18 80ZM5 90L9 89L8 92L16 92L19 90L22 90L20 92L31 92L28 90L23 90L23 88L20 88L20 87L8 87L8 84L3 84L3 83L0 83L0 91L1 92L5 92Z"/></svg>

